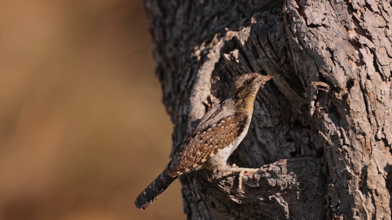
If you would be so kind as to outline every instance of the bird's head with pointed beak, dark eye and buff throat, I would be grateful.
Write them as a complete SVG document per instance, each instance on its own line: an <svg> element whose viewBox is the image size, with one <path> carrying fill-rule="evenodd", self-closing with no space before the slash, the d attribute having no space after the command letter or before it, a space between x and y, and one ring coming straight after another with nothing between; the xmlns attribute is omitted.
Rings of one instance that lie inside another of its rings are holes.
<svg viewBox="0 0 392 220"><path fill-rule="evenodd" d="M238 76L230 89L229 97L234 99L240 108L253 111L254 99L259 88L272 78L273 76L263 76L255 72Z"/></svg>

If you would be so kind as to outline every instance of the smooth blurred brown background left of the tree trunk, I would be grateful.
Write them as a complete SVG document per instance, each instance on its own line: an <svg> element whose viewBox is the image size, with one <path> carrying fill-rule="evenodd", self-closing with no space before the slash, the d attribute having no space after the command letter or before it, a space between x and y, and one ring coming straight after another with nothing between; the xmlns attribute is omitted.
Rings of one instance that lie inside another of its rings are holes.
<svg viewBox="0 0 392 220"><path fill-rule="evenodd" d="M185 219L141 0L0 0L0 219Z"/></svg>

